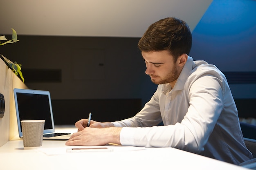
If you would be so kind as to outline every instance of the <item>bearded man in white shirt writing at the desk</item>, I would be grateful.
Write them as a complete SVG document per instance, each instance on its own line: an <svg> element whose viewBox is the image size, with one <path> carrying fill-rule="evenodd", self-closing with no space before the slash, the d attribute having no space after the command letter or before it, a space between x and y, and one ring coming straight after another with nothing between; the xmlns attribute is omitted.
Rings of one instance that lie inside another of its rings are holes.
<svg viewBox="0 0 256 170"><path fill-rule="evenodd" d="M189 57L192 35L177 18L149 26L139 40L145 73L159 84L132 118L100 123L81 119L66 145L173 147L239 164L252 159L227 79L214 65ZM163 122L164 126L157 126Z"/></svg>

